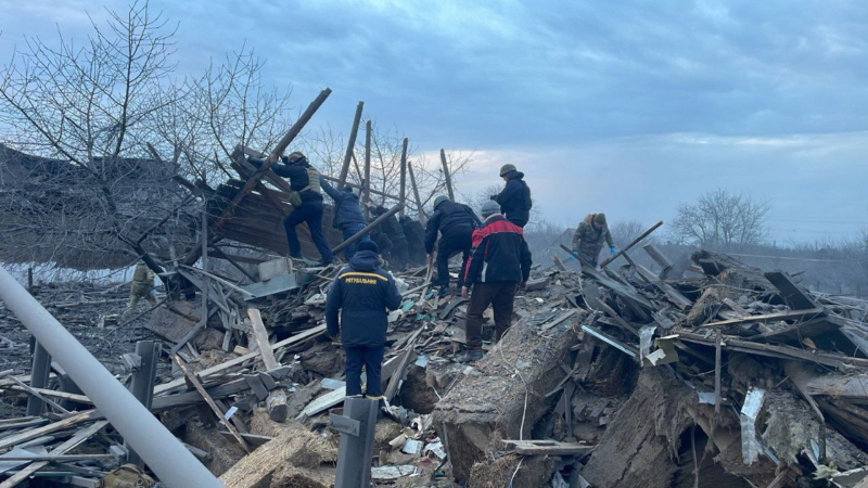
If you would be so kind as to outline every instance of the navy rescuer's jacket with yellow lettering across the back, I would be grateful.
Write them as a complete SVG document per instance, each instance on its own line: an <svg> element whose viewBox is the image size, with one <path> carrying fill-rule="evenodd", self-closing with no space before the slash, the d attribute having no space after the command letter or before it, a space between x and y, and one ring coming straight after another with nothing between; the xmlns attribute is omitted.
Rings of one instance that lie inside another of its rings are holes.
<svg viewBox="0 0 868 488"><path fill-rule="evenodd" d="M375 253L360 251L334 279L326 299L326 324L337 335L341 312L341 342L344 346L381 347L386 343L386 309L400 306L395 280L380 268Z"/></svg>

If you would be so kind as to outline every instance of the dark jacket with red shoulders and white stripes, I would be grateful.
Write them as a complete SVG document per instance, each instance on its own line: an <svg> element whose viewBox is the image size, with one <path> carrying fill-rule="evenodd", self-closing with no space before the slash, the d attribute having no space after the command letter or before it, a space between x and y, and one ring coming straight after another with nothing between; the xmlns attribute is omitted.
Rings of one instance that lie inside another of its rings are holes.
<svg viewBox="0 0 868 488"><path fill-rule="evenodd" d="M467 268L464 286L473 283L524 283L531 277L531 249L522 228L495 214L482 229L473 231L473 256Z"/></svg>

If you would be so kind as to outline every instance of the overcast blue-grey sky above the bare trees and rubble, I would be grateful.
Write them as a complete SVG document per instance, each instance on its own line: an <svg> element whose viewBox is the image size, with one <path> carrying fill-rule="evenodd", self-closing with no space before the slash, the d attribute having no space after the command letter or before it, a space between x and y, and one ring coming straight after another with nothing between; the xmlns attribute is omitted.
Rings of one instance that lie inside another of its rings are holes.
<svg viewBox="0 0 868 488"><path fill-rule="evenodd" d="M24 35L87 33L105 0L0 0ZM484 4L484 7L483 7ZM472 193L513 163L546 218L672 218L725 188L771 203L778 244L868 227L868 2L152 0L180 73L245 41L316 123L356 103L422 153L475 151Z"/></svg>

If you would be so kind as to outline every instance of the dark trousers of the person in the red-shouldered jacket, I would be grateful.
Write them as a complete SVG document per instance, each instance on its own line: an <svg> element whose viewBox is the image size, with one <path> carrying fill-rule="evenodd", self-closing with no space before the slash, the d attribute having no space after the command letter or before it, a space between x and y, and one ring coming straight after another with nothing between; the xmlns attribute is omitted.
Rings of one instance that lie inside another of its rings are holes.
<svg viewBox="0 0 868 488"><path fill-rule="evenodd" d="M482 322L485 309L490 305L495 312L495 342L512 326L512 307L519 283L474 283L468 305L468 350L482 350Z"/></svg>

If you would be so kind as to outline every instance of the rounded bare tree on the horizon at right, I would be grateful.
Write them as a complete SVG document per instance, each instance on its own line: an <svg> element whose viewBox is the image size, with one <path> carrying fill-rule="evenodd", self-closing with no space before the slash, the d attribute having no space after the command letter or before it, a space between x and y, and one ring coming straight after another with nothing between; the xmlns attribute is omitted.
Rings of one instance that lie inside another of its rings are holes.
<svg viewBox="0 0 868 488"><path fill-rule="evenodd" d="M750 195L716 190L694 204L680 204L669 236L681 244L739 251L765 237L768 210L768 203Z"/></svg>

